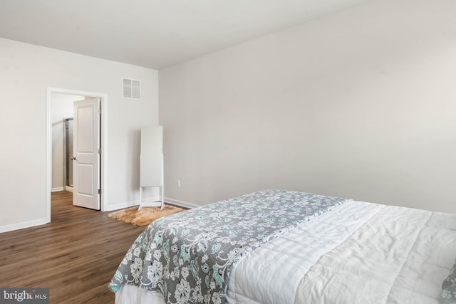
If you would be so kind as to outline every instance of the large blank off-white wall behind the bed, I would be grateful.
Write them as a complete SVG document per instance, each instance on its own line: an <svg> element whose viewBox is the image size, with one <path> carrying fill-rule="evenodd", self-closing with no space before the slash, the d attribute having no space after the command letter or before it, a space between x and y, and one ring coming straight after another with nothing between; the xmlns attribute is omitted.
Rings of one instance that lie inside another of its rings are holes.
<svg viewBox="0 0 456 304"><path fill-rule="evenodd" d="M160 70L166 196L456 212L455 16L455 1L370 1Z"/></svg>

